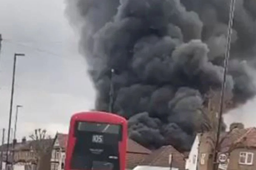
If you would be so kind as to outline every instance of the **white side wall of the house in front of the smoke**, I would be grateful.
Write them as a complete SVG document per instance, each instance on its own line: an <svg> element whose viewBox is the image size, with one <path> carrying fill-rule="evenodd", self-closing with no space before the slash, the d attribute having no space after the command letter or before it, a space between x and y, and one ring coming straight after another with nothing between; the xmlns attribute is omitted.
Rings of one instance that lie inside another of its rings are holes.
<svg viewBox="0 0 256 170"><path fill-rule="evenodd" d="M188 154L188 158L186 159L185 169L197 170L198 147L199 147L200 138L201 138L201 133L197 134L197 136L195 137L191 150Z"/></svg>

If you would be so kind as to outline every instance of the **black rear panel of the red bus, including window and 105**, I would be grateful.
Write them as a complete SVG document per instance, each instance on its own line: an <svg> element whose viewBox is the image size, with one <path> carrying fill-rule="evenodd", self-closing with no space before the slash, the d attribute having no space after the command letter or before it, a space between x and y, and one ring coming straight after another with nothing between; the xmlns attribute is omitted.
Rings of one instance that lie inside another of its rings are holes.
<svg viewBox="0 0 256 170"><path fill-rule="evenodd" d="M119 141L122 126L77 122L71 169L120 170Z"/></svg>

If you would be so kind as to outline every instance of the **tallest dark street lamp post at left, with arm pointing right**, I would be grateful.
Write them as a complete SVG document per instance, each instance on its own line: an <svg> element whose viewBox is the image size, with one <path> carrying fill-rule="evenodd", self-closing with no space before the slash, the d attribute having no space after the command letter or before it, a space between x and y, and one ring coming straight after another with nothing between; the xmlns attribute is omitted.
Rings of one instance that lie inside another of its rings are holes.
<svg viewBox="0 0 256 170"><path fill-rule="evenodd" d="M10 145L10 131L11 131L11 123L12 123L12 103L13 103L13 94L14 94L14 83L15 83L15 71L16 71L16 60L17 56L25 56L25 54L15 53L13 60L13 70L12 70L12 91L11 91L11 101L10 101L10 112L9 112L9 125L8 125L8 133L7 133L7 149L6 149L6 164L5 169L7 169L7 165L9 164L8 154L9 154L9 145Z"/></svg>

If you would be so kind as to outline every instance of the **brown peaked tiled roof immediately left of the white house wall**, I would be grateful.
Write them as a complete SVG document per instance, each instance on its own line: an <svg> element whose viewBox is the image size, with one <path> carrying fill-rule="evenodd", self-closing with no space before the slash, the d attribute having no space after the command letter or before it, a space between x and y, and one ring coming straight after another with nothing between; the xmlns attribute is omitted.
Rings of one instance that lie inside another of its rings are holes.
<svg viewBox="0 0 256 170"><path fill-rule="evenodd" d="M150 165L150 166L161 166L170 167L169 165L169 155L172 154L172 167L179 168L180 170L185 169L184 155L178 150L173 148L173 146L162 146L161 148L155 150L147 156L140 165Z"/></svg>

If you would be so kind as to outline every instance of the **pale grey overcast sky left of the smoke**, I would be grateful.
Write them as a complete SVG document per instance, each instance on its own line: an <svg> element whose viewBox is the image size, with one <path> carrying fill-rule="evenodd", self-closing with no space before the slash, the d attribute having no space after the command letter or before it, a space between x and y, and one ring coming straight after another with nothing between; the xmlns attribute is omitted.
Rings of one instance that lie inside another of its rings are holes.
<svg viewBox="0 0 256 170"><path fill-rule="evenodd" d="M26 54L17 59L13 113L17 104L24 106L19 109L17 139L35 128L51 135L67 132L72 113L93 108L95 90L77 52L78 38L64 16L64 1L1 0L0 7L0 129L8 125L17 52Z"/></svg>

